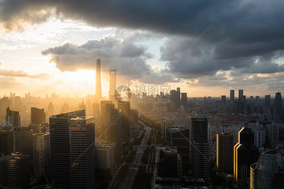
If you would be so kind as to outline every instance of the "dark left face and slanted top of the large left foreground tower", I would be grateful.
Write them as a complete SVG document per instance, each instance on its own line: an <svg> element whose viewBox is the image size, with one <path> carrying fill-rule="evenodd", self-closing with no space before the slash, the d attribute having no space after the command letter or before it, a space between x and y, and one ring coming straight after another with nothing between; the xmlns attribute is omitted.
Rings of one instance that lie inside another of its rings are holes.
<svg viewBox="0 0 284 189"><path fill-rule="evenodd" d="M51 177L55 185L70 188L70 119L85 110L50 116Z"/></svg>

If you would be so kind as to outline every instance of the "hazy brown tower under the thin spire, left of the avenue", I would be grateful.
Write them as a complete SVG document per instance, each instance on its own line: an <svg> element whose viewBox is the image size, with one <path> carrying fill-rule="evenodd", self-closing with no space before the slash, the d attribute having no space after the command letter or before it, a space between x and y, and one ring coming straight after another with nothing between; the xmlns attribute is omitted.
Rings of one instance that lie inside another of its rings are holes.
<svg viewBox="0 0 284 189"><path fill-rule="evenodd" d="M130 140L130 102L118 103L118 109L121 110L121 139Z"/></svg>

